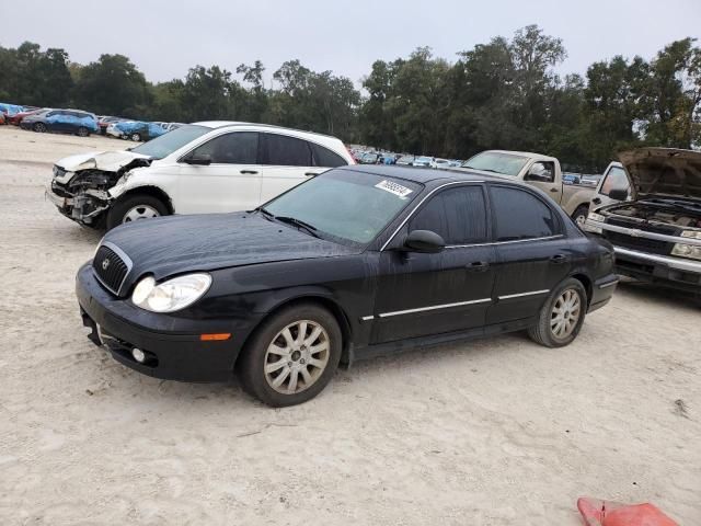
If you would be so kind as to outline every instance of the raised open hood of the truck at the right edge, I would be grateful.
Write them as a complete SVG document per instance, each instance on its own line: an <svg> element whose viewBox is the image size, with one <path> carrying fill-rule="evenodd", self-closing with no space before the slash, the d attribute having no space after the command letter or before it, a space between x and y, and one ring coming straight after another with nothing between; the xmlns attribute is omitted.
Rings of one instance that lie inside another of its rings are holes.
<svg viewBox="0 0 701 526"><path fill-rule="evenodd" d="M676 148L640 148L619 153L634 198L651 194L701 198L701 152Z"/></svg>

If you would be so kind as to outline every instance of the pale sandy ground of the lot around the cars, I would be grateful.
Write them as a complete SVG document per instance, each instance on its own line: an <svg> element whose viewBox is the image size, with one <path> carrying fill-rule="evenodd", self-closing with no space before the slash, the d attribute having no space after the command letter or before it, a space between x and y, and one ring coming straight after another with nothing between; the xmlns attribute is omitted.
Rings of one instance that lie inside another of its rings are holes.
<svg viewBox="0 0 701 526"><path fill-rule="evenodd" d="M574 526L579 495L701 524L701 310L644 286L566 348L418 350L284 410L113 362L73 296L100 235L43 185L125 146L0 127L1 525Z"/></svg>

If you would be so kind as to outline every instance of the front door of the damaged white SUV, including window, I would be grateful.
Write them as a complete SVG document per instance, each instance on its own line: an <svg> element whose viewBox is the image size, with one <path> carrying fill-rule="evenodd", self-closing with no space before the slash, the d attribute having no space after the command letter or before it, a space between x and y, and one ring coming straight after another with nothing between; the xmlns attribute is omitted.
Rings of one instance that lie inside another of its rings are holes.
<svg viewBox="0 0 701 526"><path fill-rule="evenodd" d="M261 202L258 133L231 132L179 161L179 214L250 210Z"/></svg>

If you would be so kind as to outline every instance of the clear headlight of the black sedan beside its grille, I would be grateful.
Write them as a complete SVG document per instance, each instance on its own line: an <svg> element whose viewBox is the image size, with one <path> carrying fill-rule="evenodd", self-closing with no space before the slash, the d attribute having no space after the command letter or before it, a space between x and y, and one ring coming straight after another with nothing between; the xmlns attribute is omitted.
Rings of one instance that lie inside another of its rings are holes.
<svg viewBox="0 0 701 526"><path fill-rule="evenodd" d="M209 289L209 274L187 274L160 285L153 277L141 279L134 288L131 301L152 312L174 312L194 304Z"/></svg>

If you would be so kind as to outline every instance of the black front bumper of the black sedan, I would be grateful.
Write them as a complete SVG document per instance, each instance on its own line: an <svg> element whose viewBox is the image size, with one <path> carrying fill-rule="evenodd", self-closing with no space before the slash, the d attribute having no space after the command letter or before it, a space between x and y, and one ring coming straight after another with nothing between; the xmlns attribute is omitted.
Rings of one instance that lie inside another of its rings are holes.
<svg viewBox="0 0 701 526"><path fill-rule="evenodd" d="M76 295L90 340L107 347L123 365L156 378L180 381L226 381L243 342L264 315L246 320L196 320L139 309L116 298L95 278L90 264L76 276ZM226 341L200 341L200 334L231 333ZM131 351L147 355L138 363Z"/></svg>

